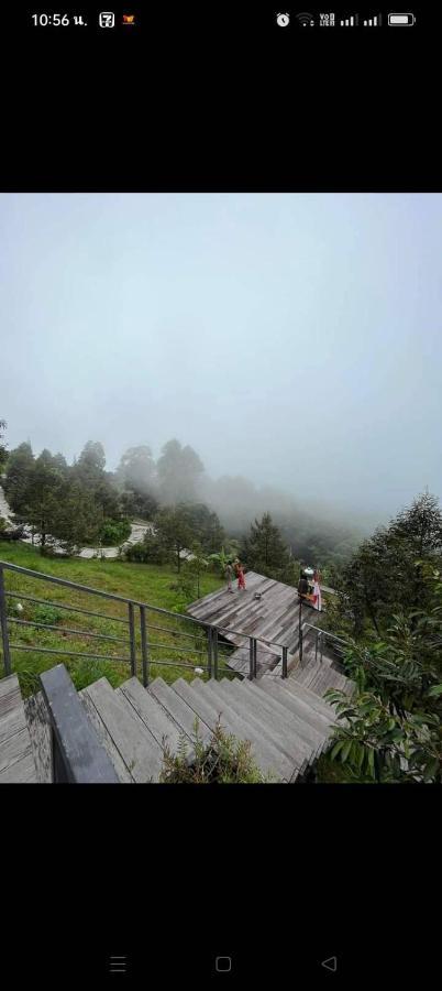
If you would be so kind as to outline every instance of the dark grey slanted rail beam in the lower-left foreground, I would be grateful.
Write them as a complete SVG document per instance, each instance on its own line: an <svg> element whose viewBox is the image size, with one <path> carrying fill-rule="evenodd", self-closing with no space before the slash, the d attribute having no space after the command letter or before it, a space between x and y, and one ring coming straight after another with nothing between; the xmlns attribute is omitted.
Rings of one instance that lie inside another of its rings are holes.
<svg viewBox="0 0 442 991"><path fill-rule="evenodd" d="M43 672L40 680L52 730L66 766L67 780L76 784L117 784L114 767L81 706L64 664Z"/></svg>

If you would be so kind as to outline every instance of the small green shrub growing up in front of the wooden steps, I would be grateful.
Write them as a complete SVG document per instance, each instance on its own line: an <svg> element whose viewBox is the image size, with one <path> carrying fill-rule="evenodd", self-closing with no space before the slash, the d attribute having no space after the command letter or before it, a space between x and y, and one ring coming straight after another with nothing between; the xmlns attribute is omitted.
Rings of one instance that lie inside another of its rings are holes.
<svg viewBox="0 0 442 991"><path fill-rule="evenodd" d="M165 747L164 767L159 780L167 784L265 784L270 778L256 766L251 743L226 733L218 722L211 739L203 743L196 722L194 753L187 751L188 739L183 734L178 752Z"/></svg>

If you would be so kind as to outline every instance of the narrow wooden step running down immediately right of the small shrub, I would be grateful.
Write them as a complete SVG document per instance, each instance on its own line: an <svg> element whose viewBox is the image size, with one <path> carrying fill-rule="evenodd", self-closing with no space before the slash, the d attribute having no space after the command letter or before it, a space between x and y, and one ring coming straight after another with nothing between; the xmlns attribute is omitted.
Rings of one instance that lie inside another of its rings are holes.
<svg viewBox="0 0 442 991"><path fill-rule="evenodd" d="M206 682L202 690L208 698L210 695L218 711L221 711L222 725L228 726L229 732L240 740L250 740L252 755L257 765L283 781L291 781L300 771L300 762L289 756L268 730L261 726L254 714L244 705L232 705L230 695L225 694L225 686L231 685L226 678L221 682ZM201 689L200 689L201 690Z"/></svg>

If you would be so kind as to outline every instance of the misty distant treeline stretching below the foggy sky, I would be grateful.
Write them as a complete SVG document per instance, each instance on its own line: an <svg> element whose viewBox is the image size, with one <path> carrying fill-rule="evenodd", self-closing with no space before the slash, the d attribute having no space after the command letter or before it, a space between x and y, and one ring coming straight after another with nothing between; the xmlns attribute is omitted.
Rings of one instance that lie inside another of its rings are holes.
<svg viewBox="0 0 442 991"><path fill-rule="evenodd" d="M103 446L91 440L73 465L47 449L35 457L29 444L9 454L0 444L0 461L4 492L18 522L34 526L43 546L47 534L66 546L121 543L129 520L153 521L161 509L183 505L206 507L212 514L211 527L219 540L218 547L211 542L213 553L225 534L241 542L266 513L291 557L325 568L345 563L362 536L345 525L314 519L277 489L258 488L241 476L210 478L194 448L175 438L156 459L148 445L129 448L115 471L106 470Z"/></svg>

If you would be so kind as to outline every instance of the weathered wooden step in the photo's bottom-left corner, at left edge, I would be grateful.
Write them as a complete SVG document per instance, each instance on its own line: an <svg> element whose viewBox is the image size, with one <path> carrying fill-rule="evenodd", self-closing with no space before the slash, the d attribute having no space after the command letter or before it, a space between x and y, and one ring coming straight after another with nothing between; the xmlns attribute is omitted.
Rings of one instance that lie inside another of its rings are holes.
<svg viewBox="0 0 442 991"><path fill-rule="evenodd" d="M0 784L38 781L19 678L0 682Z"/></svg>

